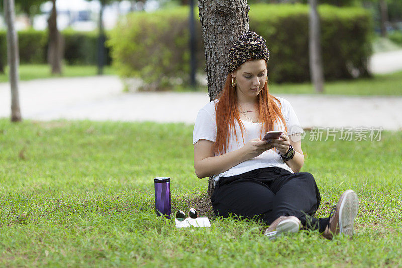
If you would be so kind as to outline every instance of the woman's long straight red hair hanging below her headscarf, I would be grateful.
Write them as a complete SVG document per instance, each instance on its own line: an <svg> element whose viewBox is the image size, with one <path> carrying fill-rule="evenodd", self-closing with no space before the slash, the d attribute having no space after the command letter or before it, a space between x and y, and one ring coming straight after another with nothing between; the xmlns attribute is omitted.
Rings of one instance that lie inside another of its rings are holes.
<svg viewBox="0 0 402 268"><path fill-rule="evenodd" d="M215 154L226 153L230 132L232 132L236 138L236 142L239 143L236 132L235 132L235 119L239 123L240 131L242 133L242 139L244 142L243 130L244 125L240 120L239 111L237 109L237 98L236 98L236 88L232 87L232 75L229 73L226 78L226 83L223 90L219 93L217 99L219 102L215 105L216 110L216 123L217 123L217 138L215 141ZM272 131L274 123L279 124L279 120L283 122L285 126L285 131L287 131L287 126L285 119L282 115L280 109L282 108L279 100L271 95L268 91L268 82L265 82L262 90L257 97L257 106L259 111L258 119L262 119L262 128L265 132ZM280 105L275 102L277 101ZM260 120L258 120L260 121ZM232 136L233 139L233 136Z"/></svg>

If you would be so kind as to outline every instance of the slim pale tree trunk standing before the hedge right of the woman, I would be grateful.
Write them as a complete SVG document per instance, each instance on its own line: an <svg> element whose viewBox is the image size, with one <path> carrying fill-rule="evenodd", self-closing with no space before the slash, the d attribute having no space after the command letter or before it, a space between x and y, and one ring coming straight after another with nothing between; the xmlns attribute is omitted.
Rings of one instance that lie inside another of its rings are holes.
<svg viewBox="0 0 402 268"><path fill-rule="evenodd" d="M309 4L310 77L315 91L322 93L324 91L324 74L320 45L320 17L317 12L317 0L309 0Z"/></svg>

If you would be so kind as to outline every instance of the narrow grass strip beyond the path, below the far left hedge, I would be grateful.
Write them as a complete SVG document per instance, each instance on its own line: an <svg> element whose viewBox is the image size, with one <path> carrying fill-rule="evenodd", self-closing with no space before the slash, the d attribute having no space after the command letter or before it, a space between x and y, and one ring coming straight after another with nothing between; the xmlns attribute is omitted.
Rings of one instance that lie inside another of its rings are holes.
<svg viewBox="0 0 402 268"><path fill-rule="evenodd" d="M47 64L21 64L19 68L20 80L28 81L33 79L55 78L55 77L79 77L97 75L96 66L75 66L63 65L62 75L52 75L50 66ZM115 71L110 66L104 67L105 75L115 74ZM0 73L0 82L7 82L9 80L8 68L5 73Z"/></svg>

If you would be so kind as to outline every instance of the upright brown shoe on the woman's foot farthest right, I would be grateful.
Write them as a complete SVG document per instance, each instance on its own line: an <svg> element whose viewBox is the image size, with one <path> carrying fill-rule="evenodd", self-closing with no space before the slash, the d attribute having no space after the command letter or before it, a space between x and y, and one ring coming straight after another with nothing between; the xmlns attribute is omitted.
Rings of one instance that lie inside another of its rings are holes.
<svg viewBox="0 0 402 268"><path fill-rule="evenodd" d="M334 235L344 233L352 237L354 234L353 222L359 211L359 200L353 190L342 193L336 206L330 212L330 221L323 236L332 240Z"/></svg>

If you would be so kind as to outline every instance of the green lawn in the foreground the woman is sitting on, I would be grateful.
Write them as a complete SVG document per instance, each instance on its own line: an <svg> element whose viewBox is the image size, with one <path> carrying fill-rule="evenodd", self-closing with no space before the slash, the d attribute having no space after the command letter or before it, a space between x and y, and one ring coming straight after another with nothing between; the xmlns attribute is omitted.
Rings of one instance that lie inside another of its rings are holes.
<svg viewBox="0 0 402 268"><path fill-rule="evenodd" d="M401 132L380 141L303 141L304 172L326 217L346 189L360 198L353 239L300 232L269 241L254 221L209 216L176 229L154 213L153 177L170 176L172 210L206 191L192 125L0 119L0 266L400 266ZM18 218L17 218L18 217Z"/></svg>

